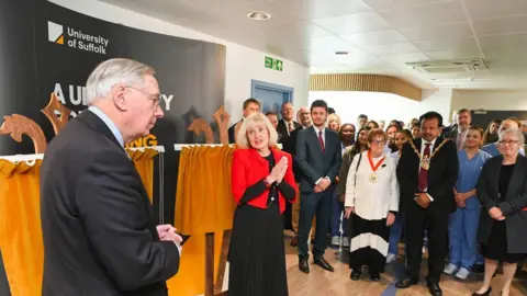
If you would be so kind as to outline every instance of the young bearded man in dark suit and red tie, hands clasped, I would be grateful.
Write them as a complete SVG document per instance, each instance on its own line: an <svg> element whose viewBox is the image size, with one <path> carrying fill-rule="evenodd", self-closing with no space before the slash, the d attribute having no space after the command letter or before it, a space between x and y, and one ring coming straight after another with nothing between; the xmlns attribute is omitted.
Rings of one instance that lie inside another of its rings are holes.
<svg viewBox="0 0 527 296"><path fill-rule="evenodd" d="M310 273L307 263L307 237L311 223L316 215L315 264L333 272L333 266L324 259L327 247L326 232L332 215L332 184L340 168L341 145L337 133L326 128L327 103L316 100L311 105L313 126L299 132L296 139L296 160L302 170L300 191L299 223L299 269Z"/></svg>

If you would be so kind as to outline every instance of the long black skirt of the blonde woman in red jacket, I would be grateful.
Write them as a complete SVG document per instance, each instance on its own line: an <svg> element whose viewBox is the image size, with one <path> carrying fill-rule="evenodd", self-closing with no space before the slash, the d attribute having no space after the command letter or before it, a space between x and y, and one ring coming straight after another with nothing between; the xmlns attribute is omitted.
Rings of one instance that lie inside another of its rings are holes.
<svg viewBox="0 0 527 296"><path fill-rule="evenodd" d="M277 203L236 208L228 250L229 296L288 296L283 224Z"/></svg>

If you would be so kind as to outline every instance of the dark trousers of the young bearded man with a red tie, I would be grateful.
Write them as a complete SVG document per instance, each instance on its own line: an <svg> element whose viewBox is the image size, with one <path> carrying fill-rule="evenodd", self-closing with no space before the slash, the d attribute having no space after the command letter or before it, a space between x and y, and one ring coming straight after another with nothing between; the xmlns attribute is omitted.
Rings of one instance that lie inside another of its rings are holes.
<svg viewBox="0 0 527 296"><path fill-rule="evenodd" d="M326 234L332 216L333 186L321 193L302 192L300 200L299 217L299 258L309 258L307 239L311 224L316 215L315 246L313 255L315 260L322 258L327 248Z"/></svg>

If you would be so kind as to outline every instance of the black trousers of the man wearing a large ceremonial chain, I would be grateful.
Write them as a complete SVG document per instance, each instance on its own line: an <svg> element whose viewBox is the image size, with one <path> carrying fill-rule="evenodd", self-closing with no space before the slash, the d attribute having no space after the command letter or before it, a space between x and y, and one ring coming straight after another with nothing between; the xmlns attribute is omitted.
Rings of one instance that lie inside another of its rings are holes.
<svg viewBox="0 0 527 296"><path fill-rule="evenodd" d="M428 235L428 276L429 283L439 283L448 253L448 215L437 202L428 208L422 208L414 201L405 208L404 231L406 239L406 273L418 278L423 257L424 231Z"/></svg>

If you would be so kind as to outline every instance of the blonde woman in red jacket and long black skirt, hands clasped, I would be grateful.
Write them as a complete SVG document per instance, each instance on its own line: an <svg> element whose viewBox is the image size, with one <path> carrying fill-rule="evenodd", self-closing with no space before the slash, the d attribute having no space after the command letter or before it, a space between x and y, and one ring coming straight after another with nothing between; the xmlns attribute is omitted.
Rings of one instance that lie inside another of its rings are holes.
<svg viewBox="0 0 527 296"><path fill-rule="evenodd" d="M244 119L234 151L232 191L237 203L228 251L231 296L287 296L282 213L296 196L291 155L276 147L269 119Z"/></svg>

